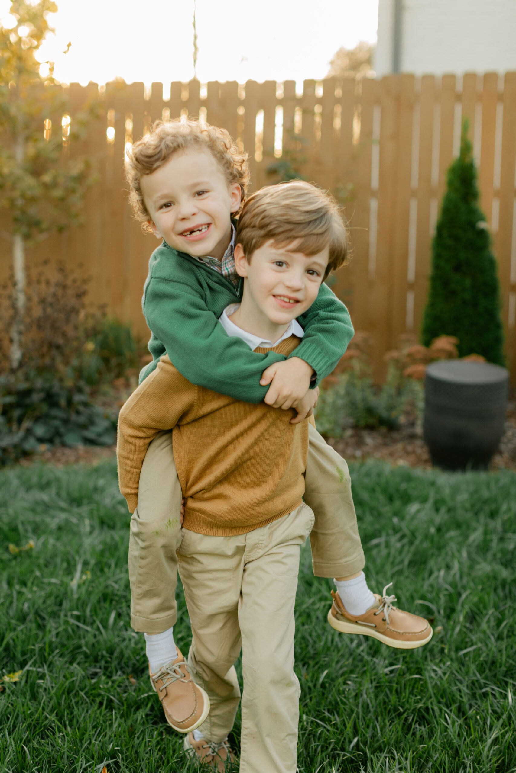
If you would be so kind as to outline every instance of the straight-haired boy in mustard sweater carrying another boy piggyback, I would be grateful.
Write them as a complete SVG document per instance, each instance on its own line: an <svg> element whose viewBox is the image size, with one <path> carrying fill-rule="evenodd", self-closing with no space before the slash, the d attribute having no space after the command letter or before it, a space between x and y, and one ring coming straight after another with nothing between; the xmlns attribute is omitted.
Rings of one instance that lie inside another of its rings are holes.
<svg viewBox="0 0 516 773"><path fill-rule="evenodd" d="M315 187L291 183L251 196L234 250L241 303L228 305L217 325L250 351L288 356L304 337L296 316L316 300L328 271L343 264L346 245L337 208ZM184 745L219 771L234 759L227 735L240 700L234 662L241 648L240 770L296 771L294 601L299 546L314 516L302 502L309 424L292 424L295 414L189 383L168 355L121 409L125 495L138 485L152 439L174 427L185 497L177 556L192 625L188 667L210 701L207 719Z"/></svg>

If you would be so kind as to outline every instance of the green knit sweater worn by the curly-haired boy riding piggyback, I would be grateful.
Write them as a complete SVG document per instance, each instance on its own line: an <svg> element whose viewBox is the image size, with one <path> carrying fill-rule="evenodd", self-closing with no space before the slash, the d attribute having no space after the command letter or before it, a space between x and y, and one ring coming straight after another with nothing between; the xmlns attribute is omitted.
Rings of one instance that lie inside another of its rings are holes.
<svg viewBox="0 0 516 773"><path fill-rule="evenodd" d="M230 338L217 322L226 306L240 301L242 286L243 281L235 288L213 268L163 242L151 255L143 288L152 363L142 369L140 383L166 353L190 383L246 403L260 403L268 390L260 386L261 373L285 356L253 352L241 339ZM354 334L350 315L322 284L316 301L298 322L305 335L290 356L309 363L318 383L346 351Z"/></svg>

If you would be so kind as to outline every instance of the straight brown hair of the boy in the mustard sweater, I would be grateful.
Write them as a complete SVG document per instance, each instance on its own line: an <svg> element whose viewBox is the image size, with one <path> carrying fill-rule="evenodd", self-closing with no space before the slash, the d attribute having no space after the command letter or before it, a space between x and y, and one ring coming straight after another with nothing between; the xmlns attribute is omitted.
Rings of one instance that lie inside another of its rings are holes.
<svg viewBox="0 0 516 773"><path fill-rule="evenodd" d="M340 207L327 193L296 180L267 186L249 196L238 219L237 243L248 261L268 241L279 247L296 242L296 252L316 255L329 248L324 278L348 262L347 227Z"/></svg>

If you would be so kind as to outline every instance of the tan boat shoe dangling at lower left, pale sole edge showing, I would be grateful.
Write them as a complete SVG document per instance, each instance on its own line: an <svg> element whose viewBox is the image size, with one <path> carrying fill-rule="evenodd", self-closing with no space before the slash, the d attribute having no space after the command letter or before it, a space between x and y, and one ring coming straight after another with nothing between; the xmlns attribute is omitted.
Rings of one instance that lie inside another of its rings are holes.
<svg viewBox="0 0 516 773"><path fill-rule="evenodd" d="M158 693L165 719L178 733L191 733L208 716L210 698L196 684L188 663L177 649L177 657L155 674L149 666L152 690Z"/></svg>

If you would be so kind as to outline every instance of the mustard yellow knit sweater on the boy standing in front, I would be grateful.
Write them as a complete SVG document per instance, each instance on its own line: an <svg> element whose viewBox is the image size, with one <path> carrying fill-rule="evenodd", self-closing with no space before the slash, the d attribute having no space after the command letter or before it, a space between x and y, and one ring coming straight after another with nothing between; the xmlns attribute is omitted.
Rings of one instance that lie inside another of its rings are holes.
<svg viewBox="0 0 516 773"><path fill-rule="evenodd" d="M273 349L288 356L298 344L292 335ZM130 512L150 442L173 428L186 529L228 536L281 518L305 491L308 421L290 424L295 415L195 386L162 356L118 419L118 481Z"/></svg>

